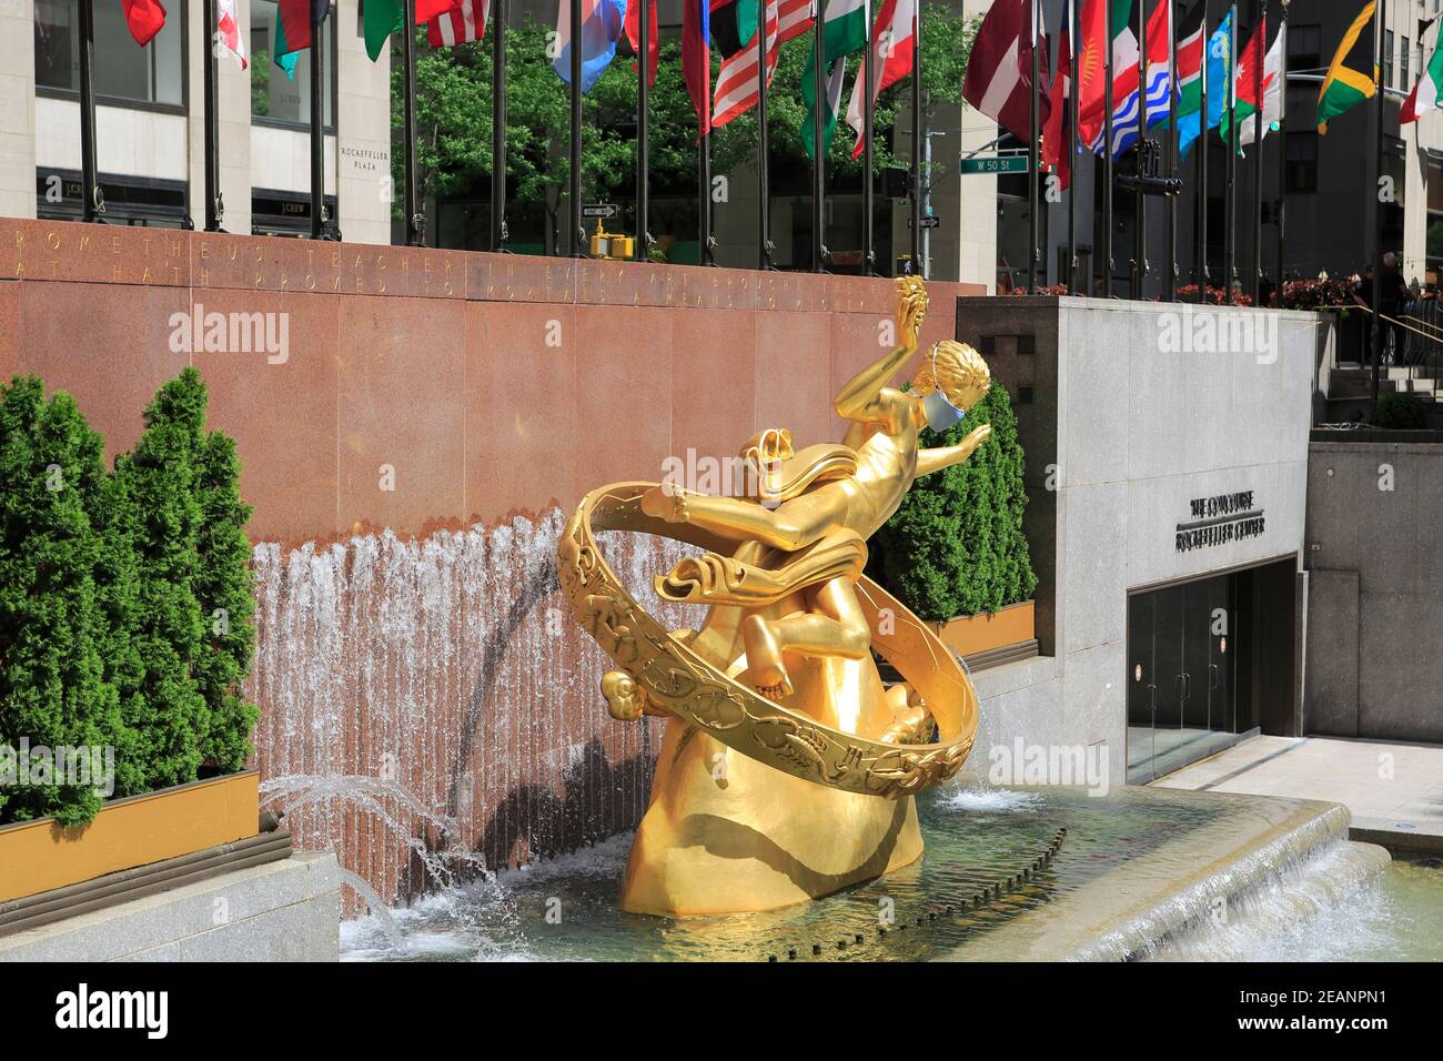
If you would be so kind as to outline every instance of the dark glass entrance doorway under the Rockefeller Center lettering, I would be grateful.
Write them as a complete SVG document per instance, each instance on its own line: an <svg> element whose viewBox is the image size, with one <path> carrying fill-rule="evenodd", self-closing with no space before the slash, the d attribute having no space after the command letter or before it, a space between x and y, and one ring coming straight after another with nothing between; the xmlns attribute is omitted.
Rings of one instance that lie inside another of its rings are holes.
<svg viewBox="0 0 1443 1061"><path fill-rule="evenodd" d="M1128 784L1291 733L1294 572L1287 559L1128 595Z"/></svg>

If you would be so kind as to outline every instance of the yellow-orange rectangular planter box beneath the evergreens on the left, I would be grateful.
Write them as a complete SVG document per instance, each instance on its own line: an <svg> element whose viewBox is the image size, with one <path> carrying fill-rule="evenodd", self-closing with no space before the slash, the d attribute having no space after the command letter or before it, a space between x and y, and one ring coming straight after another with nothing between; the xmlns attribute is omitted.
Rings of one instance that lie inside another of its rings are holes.
<svg viewBox="0 0 1443 1061"><path fill-rule="evenodd" d="M260 772L114 800L88 826L0 826L0 902L255 836Z"/></svg>

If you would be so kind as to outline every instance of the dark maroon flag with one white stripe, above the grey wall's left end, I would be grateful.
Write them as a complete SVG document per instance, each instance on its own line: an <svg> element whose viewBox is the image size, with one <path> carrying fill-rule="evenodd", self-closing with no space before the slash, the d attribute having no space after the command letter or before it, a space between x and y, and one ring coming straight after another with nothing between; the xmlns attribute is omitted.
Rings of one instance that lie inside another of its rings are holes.
<svg viewBox="0 0 1443 1061"><path fill-rule="evenodd" d="M996 0L973 40L962 78L962 98L1023 143L1032 139L1030 19L1030 0ZM1043 68L1039 56L1038 69L1045 75ZM1048 97L1043 95L1038 121L1046 120Z"/></svg>

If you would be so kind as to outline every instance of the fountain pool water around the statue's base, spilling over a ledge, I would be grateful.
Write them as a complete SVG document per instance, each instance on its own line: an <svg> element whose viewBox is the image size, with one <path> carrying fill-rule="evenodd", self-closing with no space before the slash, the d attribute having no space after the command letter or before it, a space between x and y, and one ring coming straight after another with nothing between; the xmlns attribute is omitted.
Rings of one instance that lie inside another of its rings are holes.
<svg viewBox="0 0 1443 1061"><path fill-rule="evenodd" d="M349 921L342 957L1443 959L1443 869L1348 842L1346 811L1332 804L949 785L919 811L919 863L817 902L685 921L625 914L620 836ZM1040 872L977 905L1059 829Z"/></svg>

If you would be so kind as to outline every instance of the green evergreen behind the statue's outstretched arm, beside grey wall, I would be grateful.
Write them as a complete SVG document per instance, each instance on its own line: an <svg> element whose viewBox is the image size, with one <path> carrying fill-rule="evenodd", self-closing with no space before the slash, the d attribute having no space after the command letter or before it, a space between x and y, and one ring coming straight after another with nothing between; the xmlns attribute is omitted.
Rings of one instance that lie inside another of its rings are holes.
<svg viewBox="0 0 1443 1061"><path fill-rule="evenodd" d="M924 429L922 445L955 446L984 423L993 430L977 452L912 484L869 543L867 573L924 619L996 612L1038 585L1022 533L1026 458L1007 390L994 381L960 424Z"/></svg>

